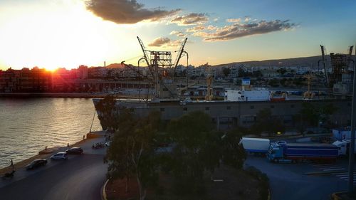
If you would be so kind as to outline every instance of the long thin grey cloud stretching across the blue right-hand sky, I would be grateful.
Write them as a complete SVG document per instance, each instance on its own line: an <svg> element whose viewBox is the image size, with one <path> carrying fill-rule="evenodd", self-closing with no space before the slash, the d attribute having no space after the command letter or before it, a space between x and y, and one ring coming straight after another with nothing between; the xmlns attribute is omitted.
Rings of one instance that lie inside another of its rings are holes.
<svg viewBox="0 0 356 200"><path fill-rule="evenodd" d="M204 38L204 41L228 41L244 36L253 36L274 31L288 31L296 26L295 23L290 23L288 20L251 21L251 19L248 19L247 22L241 23L237 19L231 19L229 22L233 21L236 23L220 28L215 26L211 26L210 28L208 28L209 26L203 26L204 28L199 26L198 28L196 26L189 29L189 31L193 32L193 36Z"/></svg>

